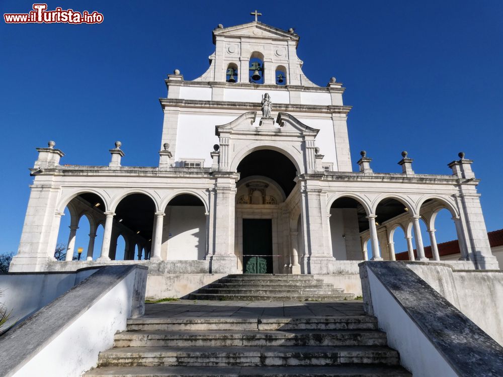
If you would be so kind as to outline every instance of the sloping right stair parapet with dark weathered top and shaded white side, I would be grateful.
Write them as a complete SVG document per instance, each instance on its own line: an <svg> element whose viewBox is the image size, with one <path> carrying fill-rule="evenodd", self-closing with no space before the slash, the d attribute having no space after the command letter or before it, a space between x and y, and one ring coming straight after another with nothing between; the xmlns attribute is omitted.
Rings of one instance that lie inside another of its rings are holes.
<svg viewBox="0 0 503 377"><path fill-rule="evenodd" d="M414 375L503 375L503 347L405 263L360 267L365 304Z"/></svg>

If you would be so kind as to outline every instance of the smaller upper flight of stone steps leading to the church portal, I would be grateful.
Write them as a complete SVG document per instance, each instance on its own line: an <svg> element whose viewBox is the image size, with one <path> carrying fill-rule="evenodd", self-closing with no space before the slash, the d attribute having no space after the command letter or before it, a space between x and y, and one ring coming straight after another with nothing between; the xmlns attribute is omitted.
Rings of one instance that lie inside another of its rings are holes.
<svg viewBox="0 0 503 377"><path fill-rule="evenodd" d="M337 301L355 295L313 275L233 274L189 295L189 300Z"/></svg>

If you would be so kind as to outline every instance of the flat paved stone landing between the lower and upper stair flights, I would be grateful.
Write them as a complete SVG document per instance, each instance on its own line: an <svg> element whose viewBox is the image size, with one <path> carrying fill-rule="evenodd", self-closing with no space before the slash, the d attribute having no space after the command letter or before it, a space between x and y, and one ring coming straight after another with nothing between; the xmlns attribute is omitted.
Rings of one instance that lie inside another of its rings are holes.
<svg viewBox="0 0 503 377"><path fill-rule="evenodd" d="M143 318L188 317L345 317L363 316L363 303L353 301L191 301L180 300L157 304L145 304Z"/></svg>

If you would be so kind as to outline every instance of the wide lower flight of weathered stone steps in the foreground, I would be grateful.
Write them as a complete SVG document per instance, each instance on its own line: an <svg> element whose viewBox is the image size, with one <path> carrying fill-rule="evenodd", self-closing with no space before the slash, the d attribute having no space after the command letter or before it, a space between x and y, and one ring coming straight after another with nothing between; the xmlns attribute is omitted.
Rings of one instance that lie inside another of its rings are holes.
<svg viewBox="0 0 503 377"><path fill-rule="evenodd" d="M370 316L130 319L85 375L411 376Z"/></svg>

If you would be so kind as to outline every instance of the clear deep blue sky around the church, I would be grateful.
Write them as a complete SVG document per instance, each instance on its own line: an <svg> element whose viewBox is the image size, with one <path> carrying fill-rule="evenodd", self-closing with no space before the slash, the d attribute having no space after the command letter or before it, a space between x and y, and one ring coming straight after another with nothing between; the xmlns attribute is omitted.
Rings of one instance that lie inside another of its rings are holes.
<svg viewBox="0 0 503 377"><path fill-rule="evenodd" d="M123 164L155 165L166 73L198 77L213 52L212 29L250 22L255 8L261 22L300 35L312 81L344 83L354 162L366 149L374 171L399 172L406 149L417 173L449 174L462 150L482 179L487 229L503 228L503 2L270 3L60 0L49 10L96 10L104 22L2 19L0 253L17 250L35 147L55 140L62 163L106 165L121 140ZM3 0L0 11L25 13L32 4Z"/></svg>

